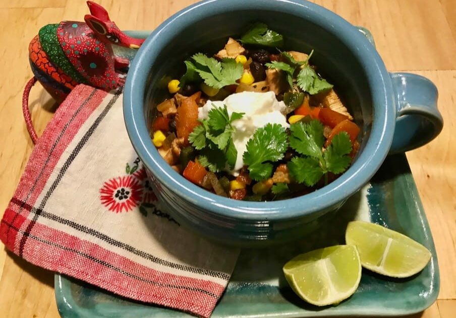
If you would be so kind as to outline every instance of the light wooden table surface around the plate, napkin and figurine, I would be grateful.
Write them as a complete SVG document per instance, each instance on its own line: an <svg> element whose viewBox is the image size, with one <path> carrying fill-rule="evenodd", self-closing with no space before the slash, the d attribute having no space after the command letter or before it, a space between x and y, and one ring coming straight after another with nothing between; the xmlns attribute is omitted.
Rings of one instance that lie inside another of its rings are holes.
<svg viewBox="0 0 456 318"><path fill-rule="evenodd" d="M253 0L251 0L253 1ZM124 30L152 30L192 0L101 0ZM430 144L407 153L434 236L440 267L438 300L413 317L454 317L456 311L456 0L318 0L354 25L368 28L390 71L430 78L439 90L445 127ZM39 28L62 20L83 21L82 0L0 0L0 215L8 205L33 144L21 112L32 76L28 43ZM40 134L52 117L52 99L37 85L30 103ZM53 273L4 248L0 251L3 317L58 317ZM387 306L387 304L385 304ZM451 313L453 312L453 313Z"/></svg>

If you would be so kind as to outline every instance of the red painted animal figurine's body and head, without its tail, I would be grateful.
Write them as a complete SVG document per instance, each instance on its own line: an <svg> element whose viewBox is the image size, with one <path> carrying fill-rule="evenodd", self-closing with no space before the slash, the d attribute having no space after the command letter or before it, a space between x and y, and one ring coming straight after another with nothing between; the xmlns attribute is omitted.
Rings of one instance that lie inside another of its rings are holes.
<svg viewBox="0 0 456 318"><path fill-rule="evenodd" d="M91 1L87 5L91 15L84 17L85 22L48 24L29 45L30 65L36 80L58 101L77 84L107 91L122 86L125 83L122 69L129 61L116 57L111 45L138 49L144 42L119 30L100 5Z"/></svg>

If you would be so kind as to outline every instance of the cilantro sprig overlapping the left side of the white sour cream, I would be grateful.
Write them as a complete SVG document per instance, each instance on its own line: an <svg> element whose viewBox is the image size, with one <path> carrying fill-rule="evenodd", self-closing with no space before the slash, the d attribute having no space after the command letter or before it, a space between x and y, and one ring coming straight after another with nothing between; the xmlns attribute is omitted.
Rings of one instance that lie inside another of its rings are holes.
<svg viewBox="0 0 456 318"><path fill-rule="evenodd" d="M233 112L230 116L226 105L212 106L207 118L190 133L189 141L197 150L201 150L198 162L212 172L219 172L226 165L233 168L236 164L238 151L232 137L236 128L232 123L241 119L244 113Z"/></svg>

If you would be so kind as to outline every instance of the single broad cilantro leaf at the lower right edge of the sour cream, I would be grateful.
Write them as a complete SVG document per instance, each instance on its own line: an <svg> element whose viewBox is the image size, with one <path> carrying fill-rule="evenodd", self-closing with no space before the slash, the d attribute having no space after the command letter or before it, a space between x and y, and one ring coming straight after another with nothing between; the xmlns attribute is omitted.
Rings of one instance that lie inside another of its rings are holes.
<svg viewBox="0 0 456 318"><path fill-rule="evenodd" d="M247 151L243 154L244 163L249 166L250 177L256 181L269 178L272 165L283 158L288 148L285 128L279 124L267 124L255 130L247 142Z"/></svg>

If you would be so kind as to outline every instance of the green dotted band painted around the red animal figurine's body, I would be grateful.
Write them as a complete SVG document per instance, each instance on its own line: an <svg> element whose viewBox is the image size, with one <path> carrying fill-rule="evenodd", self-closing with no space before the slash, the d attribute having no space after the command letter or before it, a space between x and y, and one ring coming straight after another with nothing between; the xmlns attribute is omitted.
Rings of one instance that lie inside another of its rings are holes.
<svg viewBox="0 0 456 318"><path fill-rule="evenodd" d="M39 30L38 35L41 47L46 52L47 56L49 56L49 59L68 76L79 83L87 84L85 78L76 70L76 68L74 68L65 55L65 52L62 50L59 38L57 37L58 27L59 24L48 24Z"/></svg>

